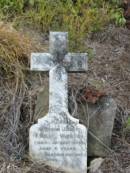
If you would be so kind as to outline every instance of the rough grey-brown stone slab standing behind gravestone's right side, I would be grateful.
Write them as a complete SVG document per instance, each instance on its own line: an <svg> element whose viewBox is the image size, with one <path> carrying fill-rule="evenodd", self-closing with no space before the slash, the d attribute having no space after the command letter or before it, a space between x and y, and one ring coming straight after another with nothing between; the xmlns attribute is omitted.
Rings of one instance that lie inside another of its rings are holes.
<svg viewBox="0 0 130 173"><path fill-rule="evenodd" d="M97 105L89 105L88 155L107 156L117 105L111 97L102 98Z"/></svg>

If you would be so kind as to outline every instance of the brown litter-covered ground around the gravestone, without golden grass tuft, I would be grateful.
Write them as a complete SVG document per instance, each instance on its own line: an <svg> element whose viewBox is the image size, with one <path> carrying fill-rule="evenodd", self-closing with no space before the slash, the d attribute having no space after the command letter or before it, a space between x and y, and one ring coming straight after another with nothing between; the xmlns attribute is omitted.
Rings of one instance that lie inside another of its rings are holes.
<svg viewBox="0 0 130 173"><path fill-rule="evenodd" d="M46 50L48 37L35 32L33 35L39 51ZM70 74L69 87L90 87L116 100L112 153L105 158L102 170L103 173L129 173L130 130L126 125L130 117L130 30L111 25L92 34L85 44L89 49L89 69L86 74ZM55 173L58 171L34 164L28 157L28 130L35 122L35 100L47 75L32 74L29 65L27 70L26 84L20 85L15 96L13 81L5 83L0 78L0 173Z"/></svg>

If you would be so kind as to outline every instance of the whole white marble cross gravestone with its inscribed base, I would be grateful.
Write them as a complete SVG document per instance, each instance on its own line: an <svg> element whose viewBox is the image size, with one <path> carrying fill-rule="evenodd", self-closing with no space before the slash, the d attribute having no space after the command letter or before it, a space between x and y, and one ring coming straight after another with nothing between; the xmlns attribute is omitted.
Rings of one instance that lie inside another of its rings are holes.
<svg viewBox="0 0 130 173"><path fill-rule="evenodd" d="M32 53L31 70L49 71L49 111L32 125L32 160L70 173L87 171L87 129L68 112L67 71L87 70L86 53L68 53L68 33L50 32L50 53Z"/></svg>

